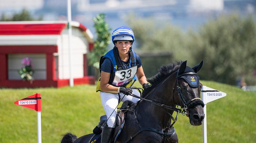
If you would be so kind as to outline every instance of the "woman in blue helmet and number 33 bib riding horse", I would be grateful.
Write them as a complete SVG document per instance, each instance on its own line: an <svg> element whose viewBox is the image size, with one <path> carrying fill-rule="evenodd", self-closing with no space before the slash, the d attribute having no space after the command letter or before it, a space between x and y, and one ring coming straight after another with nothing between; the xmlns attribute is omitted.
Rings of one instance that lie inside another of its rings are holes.
<svg viewBox="0 0 256 143"><path fill-rule="evenodd" d="M118 101L120 99L122 102L130 100L136 103L139 101L138 98L130 96L131 94L140 96L136 89L129 88L135 74L143 88L149 86L140 57L131 48L134 40L133 31L129 27L123 26L115 29L112 33L114 48L100 60L101 77L97 91L100 91L101 102L109 118L102 130L101 143L108 143L112 137L117 114L117 111L113 111L116 110Z"/></svg>

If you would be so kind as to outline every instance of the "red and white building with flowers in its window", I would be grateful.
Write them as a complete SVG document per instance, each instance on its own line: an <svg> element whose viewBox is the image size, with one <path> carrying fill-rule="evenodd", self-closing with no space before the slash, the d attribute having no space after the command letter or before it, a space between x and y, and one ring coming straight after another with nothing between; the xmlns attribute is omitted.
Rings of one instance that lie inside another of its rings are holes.
<svg viewBox="0 0 256 143"><path fill-rule="evenodd" d="M94 84L88 76L87 53L93 35L78 22L71 22L72 75L74 84ZM32 59L34 81L18 73L21 60ZM69 85L67 21L0 22L0 87L61 87Z"/></svg>

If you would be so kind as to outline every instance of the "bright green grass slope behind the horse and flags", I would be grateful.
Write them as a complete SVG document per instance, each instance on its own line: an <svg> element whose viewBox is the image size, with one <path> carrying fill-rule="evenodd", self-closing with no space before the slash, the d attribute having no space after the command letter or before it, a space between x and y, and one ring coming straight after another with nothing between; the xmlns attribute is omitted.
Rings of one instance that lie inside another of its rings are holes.
<svg viewBox="0 0 256 143"><path fill-rule="evenodd" d="M207 104L208 143L253 143L256 140L256 93L234 86L202 81L227 96ZM138 82L136 83L138 86ZM0 142L37 142L36 111L14 105L14 101L40 92L42 96L42 142L58 143L61 135L78 137L91 133L104 114L93 85L62 88L0 89ZM202 126L191 126L181 114L174 125L181 143L201 143Z"/></svg>

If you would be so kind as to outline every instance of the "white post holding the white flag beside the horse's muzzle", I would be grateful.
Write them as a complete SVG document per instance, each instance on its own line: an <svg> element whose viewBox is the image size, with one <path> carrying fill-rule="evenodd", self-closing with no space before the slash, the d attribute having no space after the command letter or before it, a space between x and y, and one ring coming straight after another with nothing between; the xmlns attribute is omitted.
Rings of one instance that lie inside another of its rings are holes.
<svg viewBox="0 0 256 143"><path fill-rule="evenodd" d="M202 86L201 91L205 89L206 86ZM206 127L206 104L207 104L207 94L204 94L204 92L201 92L201 97L203 100L203 103L205 106L203 107L203 112L205 113L205 118L203 119L203 143L207 143L207 127Z"/></svg>

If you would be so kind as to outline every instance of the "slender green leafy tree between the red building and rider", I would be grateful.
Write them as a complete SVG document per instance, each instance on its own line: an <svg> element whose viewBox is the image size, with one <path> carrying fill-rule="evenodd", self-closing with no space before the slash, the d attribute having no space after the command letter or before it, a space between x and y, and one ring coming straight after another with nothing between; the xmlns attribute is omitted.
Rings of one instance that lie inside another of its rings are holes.
<svg viewBox="0 0 256 143"><path fill-rule="evenodd" d="M94 42L94 48L90 53L89 56L89 65L93 65L96 68L95 76L96 78L99 76L99 61L101 56L106 54L107 46L110 43L110 28L108 24L105 22L105 14L100 13L95 18L93 18L95 32L97 34L97 39Z"/></svg>

